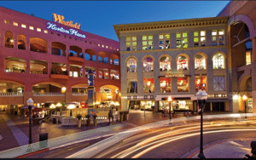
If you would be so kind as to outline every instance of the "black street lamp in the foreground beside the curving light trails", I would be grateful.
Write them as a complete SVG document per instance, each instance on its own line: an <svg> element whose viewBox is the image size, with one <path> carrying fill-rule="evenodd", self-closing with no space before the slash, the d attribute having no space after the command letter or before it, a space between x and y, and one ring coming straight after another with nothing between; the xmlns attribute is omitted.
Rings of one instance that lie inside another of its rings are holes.
<svg viewBox="0 0 256 160"><path fill-rule="evenodd" d="M200 143L200 153L198 155L198 157L201 159L206 158L203 153L203 134L202 134L202 132L203 132L203 109L207 103L207 95L208 94L207 94L206 90L201 90L201 89L196 93L198 105L199 105L199 108L201 109L201 143Z"/></svg>

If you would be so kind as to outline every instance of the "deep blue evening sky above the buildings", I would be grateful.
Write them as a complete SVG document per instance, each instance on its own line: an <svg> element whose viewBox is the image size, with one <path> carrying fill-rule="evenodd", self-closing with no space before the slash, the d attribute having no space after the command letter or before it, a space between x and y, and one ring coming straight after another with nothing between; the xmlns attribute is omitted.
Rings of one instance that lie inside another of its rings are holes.
<svg viewBox="0 0 256 160"><path fill-rule="evenodd" d="M52 20L52 14L81 24L81 30L119 41L113 25L215 17L229 1L1 1L0 6Z"/></svg>

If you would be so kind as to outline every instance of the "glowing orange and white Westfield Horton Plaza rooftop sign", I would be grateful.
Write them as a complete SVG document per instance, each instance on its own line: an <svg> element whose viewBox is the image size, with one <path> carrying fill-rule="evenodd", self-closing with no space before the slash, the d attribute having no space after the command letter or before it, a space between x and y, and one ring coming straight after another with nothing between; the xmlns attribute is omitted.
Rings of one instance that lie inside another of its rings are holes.
<svg viewBox="0 0 256 160"><path fill-rule="evenodd" d="M81 26L81 24L78 25L78 23L73 24L73 21L64 21L64 16L59 15L59 14L54 14L54 19L55 19L55 22L58 21L62 25L71 26L76 29L80 29L80 26ZM80 34L79 31L77 31L77 30L74 30L74 29L66 30L63 27L59 27L56 24L51 23L51 22L48 22L47 25L48 25L47 26L48 29L51 29L54 31L61 31L63 33L74 35L76 37L84 37L85 38L85 35Z"/></svg>

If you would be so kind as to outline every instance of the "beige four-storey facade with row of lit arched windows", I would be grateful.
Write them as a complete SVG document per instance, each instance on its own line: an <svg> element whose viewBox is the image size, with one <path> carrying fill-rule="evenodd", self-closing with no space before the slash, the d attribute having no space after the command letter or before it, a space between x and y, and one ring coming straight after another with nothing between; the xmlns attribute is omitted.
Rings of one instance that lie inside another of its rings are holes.
<svg viewBox="0 0 256 160"><path fill-rule="evenodd" d="M122 110L233 111L229 94L229 17L168 20L114 26L120 42ZM172 104L167 98L172 96Z"/></svg>

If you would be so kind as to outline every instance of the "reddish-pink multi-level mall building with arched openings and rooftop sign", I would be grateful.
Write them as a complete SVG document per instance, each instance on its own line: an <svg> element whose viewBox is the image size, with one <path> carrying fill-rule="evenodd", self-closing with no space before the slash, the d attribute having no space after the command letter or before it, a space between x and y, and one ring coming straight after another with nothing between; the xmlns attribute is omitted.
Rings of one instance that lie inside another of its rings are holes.
<svg viewBox="0 0 256 160"><path fill-rule="evenodd" d="M90 70L94 101L120 100L119 42L80 28L63 15L43 20L0 7L1 111L14 114L29 97L38 107L85 107Z"/></svg>

